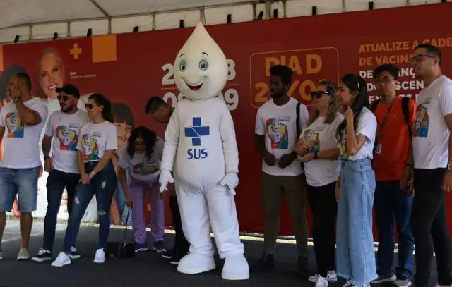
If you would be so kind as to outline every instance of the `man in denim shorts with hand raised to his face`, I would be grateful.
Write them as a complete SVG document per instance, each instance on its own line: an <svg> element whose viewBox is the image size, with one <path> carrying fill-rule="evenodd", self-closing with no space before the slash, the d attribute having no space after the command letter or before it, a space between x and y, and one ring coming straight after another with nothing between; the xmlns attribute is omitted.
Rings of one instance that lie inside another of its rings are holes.
<svg viewBox="0 0 452 287"><path fill-rule="evenodd" d="M47 107L40 99L32 98L31 85L28 74L12 77L8 87L12 101L0 111L0 142L4 144L0 164L0 241L6 224L5 212L11 212L18 195L22 237L18 260L30 258L32 212L36 210L37 178L41 169L39 143L47 119Z"/></svg>

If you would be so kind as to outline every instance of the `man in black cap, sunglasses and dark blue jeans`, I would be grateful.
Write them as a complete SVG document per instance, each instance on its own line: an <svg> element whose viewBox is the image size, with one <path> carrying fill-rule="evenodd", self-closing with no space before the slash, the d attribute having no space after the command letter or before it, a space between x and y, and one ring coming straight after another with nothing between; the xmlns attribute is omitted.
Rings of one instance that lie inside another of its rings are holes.
<svg viewBox="0 0 452 287"><path fill-rule="evenodd" d="M47 213L44 219L44 239L42 248L32 260L44 262L52 259L52 249L57 227L57 215L61 197L66 188L68 214L71 216L76 186L80 180L77 166L76 145L80 128L88 123L88 114L77 108L80 92L73 85L57 88L57 99L61 110L49 116L47 128L42 140L44 169L47 177ZM52 145L53 140L53 145ZM50 150L52 148L52 157ZM71 259L80 258L75 247L71 248Z"/></svg>

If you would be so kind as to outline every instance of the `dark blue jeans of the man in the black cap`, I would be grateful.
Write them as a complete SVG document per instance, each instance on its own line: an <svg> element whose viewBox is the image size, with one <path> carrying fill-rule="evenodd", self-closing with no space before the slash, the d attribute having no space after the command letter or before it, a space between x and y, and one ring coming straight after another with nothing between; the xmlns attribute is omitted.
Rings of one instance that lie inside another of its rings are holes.
<svg viewBox="0 0 452 287"><path fill-rule="evenodd" d="M68 193L68 221L72 214L73 200L76 188L80 181L80 174L66 173L54 169L47 177L47 212L44 218L44 240L42 248L52 252L55 239L55 228L57 227L57 216L61 206L61 197L64 188Z"/></svg>

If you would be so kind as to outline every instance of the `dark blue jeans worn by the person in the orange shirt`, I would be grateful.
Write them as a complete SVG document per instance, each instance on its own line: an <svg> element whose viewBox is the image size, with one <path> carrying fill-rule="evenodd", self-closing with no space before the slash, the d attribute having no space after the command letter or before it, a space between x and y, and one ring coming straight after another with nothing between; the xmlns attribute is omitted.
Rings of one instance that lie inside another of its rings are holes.
<svg viewBox="0 0 452 287"><path fill-rule="evenodd" d="M399 279L412 277L412 251L414 239L410 228L412 196L403 191L399 181L377 181L375 190L375 216L379 232L379 250L376 253L380 276L393 275L394 262L394 218L398 233Z"/></svg>

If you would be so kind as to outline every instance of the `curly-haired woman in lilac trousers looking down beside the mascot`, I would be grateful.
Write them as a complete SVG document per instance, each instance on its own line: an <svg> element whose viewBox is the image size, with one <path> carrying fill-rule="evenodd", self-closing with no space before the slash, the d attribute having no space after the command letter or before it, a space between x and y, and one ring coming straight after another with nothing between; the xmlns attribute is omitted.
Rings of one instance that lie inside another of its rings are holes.
<svg viewBox="0 0 452 287"><path fill-rule="evenodd" d="M132 226L135 233L135 252L148 250L146 244L145 193L150 193L151 236L154 250L165 252L165 205L157 192L160 176L163 141L152 130L139 126L134 128L124 148L119 153L119 182L126 204L132 206Z"/></svg>

